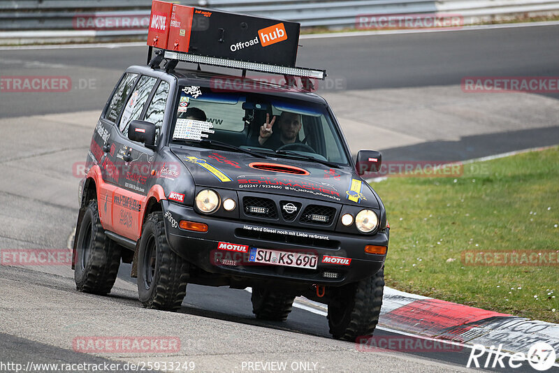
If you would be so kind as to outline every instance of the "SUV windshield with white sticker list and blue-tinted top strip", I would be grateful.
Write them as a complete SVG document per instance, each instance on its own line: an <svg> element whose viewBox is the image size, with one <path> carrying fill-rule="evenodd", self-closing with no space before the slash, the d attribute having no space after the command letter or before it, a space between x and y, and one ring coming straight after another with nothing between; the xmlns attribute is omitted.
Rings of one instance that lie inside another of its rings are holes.
<svg viewBox="0 0 559 373"><path fill-rule="evenodd" d="M180 87L171 142L214 140L228 145L347 164L324 105L266 94Z"/></svg>

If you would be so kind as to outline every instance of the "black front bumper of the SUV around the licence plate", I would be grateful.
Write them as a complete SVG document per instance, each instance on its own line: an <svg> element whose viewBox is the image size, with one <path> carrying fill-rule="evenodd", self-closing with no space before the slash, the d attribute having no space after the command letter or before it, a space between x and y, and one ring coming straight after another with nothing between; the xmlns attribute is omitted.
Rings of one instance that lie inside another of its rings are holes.
<svg viewBox="0 0 559 373"><path fill-rule="evenodd" d="M360 236L307 228L294 229L271 224L236 221L202 216L193 208L164 200L165 228L171 249L206 272L227 275L238 280L261 280L284 284L321 284L342 286L374 275L384 265L386 255L367 254L365 245L388 247L389 230ZM181 220L208 225L205 233L184 231L173 224ZM317 269L262 265L248 261L248 253L217 249L219 242L316 254ZM351 258L349 265L322 263L324 256ZM336 273L336 278L324 277Z"/></svg>

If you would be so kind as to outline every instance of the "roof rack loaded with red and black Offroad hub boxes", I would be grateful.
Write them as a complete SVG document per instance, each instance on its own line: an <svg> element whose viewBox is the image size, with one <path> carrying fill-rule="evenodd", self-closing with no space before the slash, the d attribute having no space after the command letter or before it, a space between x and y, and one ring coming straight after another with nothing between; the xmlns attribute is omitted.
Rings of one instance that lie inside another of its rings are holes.
<svg viewBox="0 0 559 373"><path fill-rule="evenodd" d="M300 24L181 6L154 0L147 64L170 71L179 61L289 77L326 78L321 69L295 66ZM215 31L215 32L214 32ZM152 57L153 50L155 56ZM289 78L289 79L288 79ZM291 84L291 83L289 83ZM312 86L312 84L310 85Z"/></svg>

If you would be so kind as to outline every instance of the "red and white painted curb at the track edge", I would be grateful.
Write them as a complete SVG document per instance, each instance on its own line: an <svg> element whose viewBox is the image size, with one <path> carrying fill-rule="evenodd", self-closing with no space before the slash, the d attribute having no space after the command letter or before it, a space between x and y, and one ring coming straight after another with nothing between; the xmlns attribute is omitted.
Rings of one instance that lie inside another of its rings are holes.
<svg viewBox="0 0 559 373"><path fill-rule="evenodd" d="M294 307L326 315L328 308L298 297ZM536 342L546 342L559 353L559 325L500 314L384 288L377 328L406 335L441 339L464 345L498 346L509 353L527 353Z"/></svg>

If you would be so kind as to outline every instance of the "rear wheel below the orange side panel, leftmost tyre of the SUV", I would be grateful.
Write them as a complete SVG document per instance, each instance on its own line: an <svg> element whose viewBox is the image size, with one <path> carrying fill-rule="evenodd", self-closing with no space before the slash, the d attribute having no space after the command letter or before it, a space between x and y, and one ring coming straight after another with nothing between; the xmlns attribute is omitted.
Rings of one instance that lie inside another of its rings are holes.
<svg viewBox="0 0 559 373"><path fill-rule="evenodd" d="M86 293L110 293L117 279L121 247L105 234L96 200L87 206L76 239L75 288Z"/></svg>

